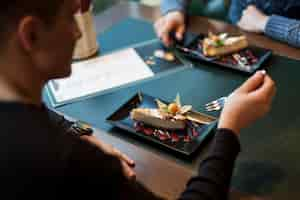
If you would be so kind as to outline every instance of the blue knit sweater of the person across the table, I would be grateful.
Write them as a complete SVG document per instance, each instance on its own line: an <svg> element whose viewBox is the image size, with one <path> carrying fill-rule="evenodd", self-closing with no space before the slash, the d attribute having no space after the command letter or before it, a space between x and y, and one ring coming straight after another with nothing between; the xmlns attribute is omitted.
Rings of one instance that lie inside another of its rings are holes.
<svg viewBox="0 0 300 200"><path fill-rule="evenodd" d="M162 0L163 14L172 10L186 12L190 0ZM299 0L231 0L229 19L236 24L248 5L255 5L270 16L265 27L269 37L300 47L300 1Z"/></svg>

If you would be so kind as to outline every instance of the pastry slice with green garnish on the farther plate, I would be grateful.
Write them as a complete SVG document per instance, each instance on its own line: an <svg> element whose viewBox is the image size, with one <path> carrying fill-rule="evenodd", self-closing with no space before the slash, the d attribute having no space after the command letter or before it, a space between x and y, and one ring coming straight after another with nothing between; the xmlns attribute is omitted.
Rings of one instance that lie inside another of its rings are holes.
<svg viewBox="0 0 300 200"><path fill-rule="evenodd" d="M203 54L209 57L232 54L247 47L248 41L245 36L228 37L227 33L209 33L202 43Z"/></svg>

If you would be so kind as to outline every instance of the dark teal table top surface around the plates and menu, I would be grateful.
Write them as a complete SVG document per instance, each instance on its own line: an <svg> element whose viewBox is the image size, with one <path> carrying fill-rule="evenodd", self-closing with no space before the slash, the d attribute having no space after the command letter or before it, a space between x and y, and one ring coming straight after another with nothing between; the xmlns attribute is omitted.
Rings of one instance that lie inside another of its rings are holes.
<svg viewBox="0 0 300 200"><path fill-rule="evenodd" d="M154 37L151 24L127 19L100 35L99 41L101 51L108 52ZM278 93L269 115L242 131L242 152L232 183L243 192L278 200L297 199L300 197L300 62L273 55L265 69L276 81ZM142 91L165 100L173 100L176 93L180 93L185 104L204 111L205 103L228 95L245 79L247 76L239 72L194 63L193 67L65 105L58 110L132 142L123 136L124 132L112 129L105 119L135 93Z"/></svg>

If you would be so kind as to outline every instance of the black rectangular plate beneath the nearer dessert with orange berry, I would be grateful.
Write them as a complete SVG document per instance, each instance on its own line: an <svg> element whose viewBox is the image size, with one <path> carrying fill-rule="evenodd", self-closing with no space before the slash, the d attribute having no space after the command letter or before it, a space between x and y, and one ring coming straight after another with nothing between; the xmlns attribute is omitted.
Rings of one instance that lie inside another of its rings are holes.
<svg viewBox="0 0 300 200"><path fill-rule="evenodd" d="M130 118L130 112L134 108L157 108L154 97L137 93L128 102L123 104L106 120L112 125L126 130L137 138L144 139L146 142L150 142L153 145L159 145L166 150L179 153L183 156L191 156L203 143L203 141L214 133L213 129L216 127L217 120L214 117L204 115L212 119L212 123L208 125L200 125L197 128L198 136L192 137L190 142L184 142L181 138L179 142L172 142L171 139L162 141L154 135L146 135L143 132L137 132L134 127L134 121ZM164 101L163 101L164 102Z"/></svg>

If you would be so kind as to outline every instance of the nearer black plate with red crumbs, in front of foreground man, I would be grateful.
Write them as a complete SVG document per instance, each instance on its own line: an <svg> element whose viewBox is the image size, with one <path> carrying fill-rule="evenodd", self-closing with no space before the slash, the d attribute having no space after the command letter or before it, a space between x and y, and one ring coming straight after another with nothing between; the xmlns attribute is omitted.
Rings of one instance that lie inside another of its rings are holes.
<svg viewBox="0 0 300 200"><path fill-rule="evenodd" d="M137 136L137 138L184 156L191 156L201 146L204 139L214 133L212 130L216 127L217 119L194 111L192 113L210 123L193 122L185 130L172 132L146 127L145 125L141 128L130 118L130 112L134 108L157 108L155 99L152 96L137 93L106 120L112 125ZM163 131L163 135L160 134L161 131Z"/></svg>

